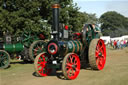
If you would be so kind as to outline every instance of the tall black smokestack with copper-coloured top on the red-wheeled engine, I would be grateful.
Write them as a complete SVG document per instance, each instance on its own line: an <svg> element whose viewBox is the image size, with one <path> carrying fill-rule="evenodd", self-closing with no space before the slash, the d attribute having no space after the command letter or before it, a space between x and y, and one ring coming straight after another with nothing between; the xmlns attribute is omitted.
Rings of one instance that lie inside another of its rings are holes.
<svg viewBox="0 0 128 85"><path fill-rule="evenodd" d="M59 40L59 4L53 4L53 36L54 39Z"/></svg>

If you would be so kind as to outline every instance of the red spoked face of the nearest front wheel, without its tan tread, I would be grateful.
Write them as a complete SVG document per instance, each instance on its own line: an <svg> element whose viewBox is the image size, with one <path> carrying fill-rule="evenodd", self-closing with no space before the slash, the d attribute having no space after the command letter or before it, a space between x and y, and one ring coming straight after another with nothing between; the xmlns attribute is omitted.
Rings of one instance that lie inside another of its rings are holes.
<svg viewBox="0 0 128 85"><path fill-rule="evenodd" d="M75 79L80 72L80 60L76 54L68 56L66 61L66 74L69 79Z"/></svg>

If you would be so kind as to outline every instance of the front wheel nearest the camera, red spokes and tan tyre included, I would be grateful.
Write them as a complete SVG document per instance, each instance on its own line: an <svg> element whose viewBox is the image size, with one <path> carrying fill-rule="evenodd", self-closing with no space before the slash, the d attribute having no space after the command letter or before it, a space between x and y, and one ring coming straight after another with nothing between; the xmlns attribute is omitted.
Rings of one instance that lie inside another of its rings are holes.
<svg viewBox="0 0 128 85"><path fill-rule="evenodd" d="M62 71L65 78L69 80L75 79L80 72L80 59L75 53L67 54L62 63Z"/></svg>

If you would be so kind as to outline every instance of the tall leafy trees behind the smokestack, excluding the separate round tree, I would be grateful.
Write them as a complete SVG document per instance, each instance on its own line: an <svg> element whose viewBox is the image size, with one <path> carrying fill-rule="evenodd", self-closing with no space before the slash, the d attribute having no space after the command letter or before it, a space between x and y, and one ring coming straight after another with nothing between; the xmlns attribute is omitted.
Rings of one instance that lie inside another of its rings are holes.
<svg viewBox="0 0 128 85"><path fill-rule="evenodd" d="M73 31L81 31L83 24L95 21L94 14L80 12L73 0L58 0L60 23ZM52 4L55 0L0 0L0 29L12 34L24 30L48 33L52 25Z"/></svg>

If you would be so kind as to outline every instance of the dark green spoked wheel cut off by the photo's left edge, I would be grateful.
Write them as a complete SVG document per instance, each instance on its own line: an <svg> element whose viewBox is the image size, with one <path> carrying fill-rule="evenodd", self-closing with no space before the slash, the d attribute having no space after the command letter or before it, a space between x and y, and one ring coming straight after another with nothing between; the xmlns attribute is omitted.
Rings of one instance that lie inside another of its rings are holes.
<svg viewBox="0 0 128 85"><path fill-rule="evenodd" d="M7 68L9 64L10 55L4 50L0 50L0 69Z"/></svg>

